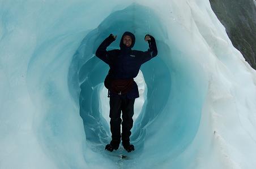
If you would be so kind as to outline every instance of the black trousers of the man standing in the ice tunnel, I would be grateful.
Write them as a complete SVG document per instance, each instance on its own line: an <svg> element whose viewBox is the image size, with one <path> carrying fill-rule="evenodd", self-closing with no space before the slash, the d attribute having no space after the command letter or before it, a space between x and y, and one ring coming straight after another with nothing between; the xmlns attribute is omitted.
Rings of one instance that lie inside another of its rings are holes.
<svg viewBox="0 0 256 169"><path fill-rule="evenodd" d="M135 99L127 99L127 97L110 96L110 131L112 133L111 144L119 145L121 141L120 126L122 123L122 141L129 143L131 128L133 127ZM122 119L121 119L122 110ZM123 120L123 121L122 121Z"/></svg>

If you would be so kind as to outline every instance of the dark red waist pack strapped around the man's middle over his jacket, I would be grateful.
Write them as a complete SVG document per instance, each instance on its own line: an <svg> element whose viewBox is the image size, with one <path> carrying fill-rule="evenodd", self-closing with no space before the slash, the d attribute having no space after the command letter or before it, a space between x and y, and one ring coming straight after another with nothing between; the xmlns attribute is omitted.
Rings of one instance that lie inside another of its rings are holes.
<svg viewBox="0 0 256 169"><path fill-rule="evenodd" d="M125 95L133 88L134 79L112 79L109 74L106 75L104 85L109 91L118 95ZM109 97L109 92L108 92Z"/></svg>

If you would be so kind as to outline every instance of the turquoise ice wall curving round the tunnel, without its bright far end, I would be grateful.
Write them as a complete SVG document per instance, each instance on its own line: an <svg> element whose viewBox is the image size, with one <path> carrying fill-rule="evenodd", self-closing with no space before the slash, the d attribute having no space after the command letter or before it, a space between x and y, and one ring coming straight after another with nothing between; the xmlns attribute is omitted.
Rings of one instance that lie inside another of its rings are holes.
<svg viewBox="0 0 256 169"><path fill-rule="evenodd" d="M70 92L79 103L87 141L96 152L102 153L105 144L109 143L110 131L109 124L100 114L97 93L109 66L95 56L95 51L110 33L119 35L119 38L108 50L119 48L121 35L125 31L135 34L133 49L146 51L148 45L143 38L150 33L156 37L159 50L157 57L141 68L148 88L147 100L134 122L131 143L135 145L136 152L129 154L129 157L142 163L146 157L157 162L167 158L175 159L197 134L206 92L203 86L199 86L199 83L204 84L203 79L199 78L202 72L193 68L190 60L182 58L182 51L157 40L157 37L167 35L165 29L150 8L134 4L113 12L96 29L88 32L72 57L69 69ZM123 153L122 149L113 152L116 155L120 153ZM112 156L106 157L119 161ZM144 164L147 161L146 158ZM126 165L128 167L129 162ZM175 167L185 167L183 165L186 164L174 164Z"/></svg>

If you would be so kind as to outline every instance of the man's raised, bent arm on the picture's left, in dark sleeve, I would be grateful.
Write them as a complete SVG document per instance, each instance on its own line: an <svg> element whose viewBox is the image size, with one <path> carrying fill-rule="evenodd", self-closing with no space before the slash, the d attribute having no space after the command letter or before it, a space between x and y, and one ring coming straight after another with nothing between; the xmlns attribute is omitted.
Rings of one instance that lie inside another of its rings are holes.
<svg viewBox="0 0 256 169"><path fill-rule="evenodd" d="M110 55L109 55L109 52L106 51L106 47L108 47L110 43L112 43L115 40L116 40L116 36L114 36L113 34L110 34L109 37L106 38L96 50L95 55L99 57L101 60L103 60L106 64L110 63L110 59L109 59Z"/></svg>

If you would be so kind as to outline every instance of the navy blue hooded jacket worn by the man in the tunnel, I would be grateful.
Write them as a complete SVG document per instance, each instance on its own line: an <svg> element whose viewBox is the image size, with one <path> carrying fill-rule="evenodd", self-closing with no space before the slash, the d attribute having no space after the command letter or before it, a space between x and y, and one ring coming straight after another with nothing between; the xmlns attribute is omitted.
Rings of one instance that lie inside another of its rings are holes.
<svg viewBox="0 0 256 169"><path fill-rule="evenodd" d="M123 36L130 35L133 39L131 46L126 47L123 42ZM130 79L135 78L138 73L140 66L146 61L149 61L157 55L156 41L150 35L151 40L148 41L148 51L131 50L135 43L135 36L131 32L125 32L122 35L120 41L120 50L106 51L106 47L115 41L112 34L106 38L96 50L96 56L103 60L110 67L110 77L113 79ZM133 88L127 94L128 99L135 99L139 97L139 90L137 84L134 82ZM110 96L118 96L110 91Z"/></svg>

